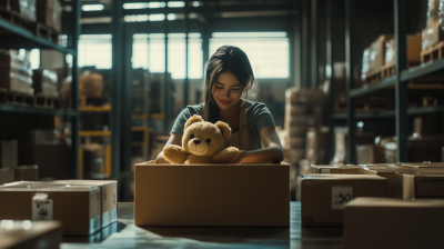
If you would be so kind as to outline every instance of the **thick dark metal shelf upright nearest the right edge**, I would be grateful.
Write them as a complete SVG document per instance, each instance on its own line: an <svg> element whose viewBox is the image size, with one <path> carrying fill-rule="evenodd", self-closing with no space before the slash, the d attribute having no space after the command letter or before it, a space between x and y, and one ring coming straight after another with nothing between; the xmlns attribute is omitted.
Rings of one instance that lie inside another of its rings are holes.
<svg viewBox="0 0 444 249"><path fill-rule="evenodd" d="M396 159L398 162L408 161L408 117L407 117L407 84L401 81L401 72L406 69L406 3L394 0L395 30L395 107L396 107Z"/></svg>

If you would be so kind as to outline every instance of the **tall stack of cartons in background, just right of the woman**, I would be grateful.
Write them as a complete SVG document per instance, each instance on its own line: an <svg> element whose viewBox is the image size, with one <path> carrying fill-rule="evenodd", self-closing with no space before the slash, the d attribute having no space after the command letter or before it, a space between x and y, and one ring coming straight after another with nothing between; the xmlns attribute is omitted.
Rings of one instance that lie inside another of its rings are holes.
<svg viewBox="0 0 444 249"><path fill-rule="evenodd" d="M324 104L326 96L324 92L316 89L299 89L290 88L285 92L285 127L286 148L289 162L296 165L301 159L306 157L306 132L312 129L311 150L314 150L321 145L317 141L324 142L319 139L319 130L323 121ZM313 155L311 158L322 160Z"/></svg>

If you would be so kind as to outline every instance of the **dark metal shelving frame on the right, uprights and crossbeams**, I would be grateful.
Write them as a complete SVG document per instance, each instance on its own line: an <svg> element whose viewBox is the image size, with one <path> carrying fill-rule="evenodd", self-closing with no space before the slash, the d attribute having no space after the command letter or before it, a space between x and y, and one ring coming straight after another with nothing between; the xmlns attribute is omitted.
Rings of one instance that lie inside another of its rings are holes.
<svg viewBox="0 0 444 249"><path fill-rule="evenodd" d="M333 0L327 0L327 17L333 16L332 8ZM433 62L423 63L413 68L406 68L406 39L400 39L406 37L406 2L402 0L393 0L394 4L394 34L395 34L395 53L397 54L395 61L395 74L389 78L381 80L380 82L363 86L360 88L354 88L354 78L353 78L353 67L354 61L352 59L353 50L353 37L355 36L355 30L353 29L353 18L354 18L354 1L345 0L345 42L346 42L346 92L347 92L347 111L344 113L336 112L330 116L330 128L333 133L334 120L346 120L349 131L355 130L355 120L359 119L379 119L379 118L395 118L395 131L397 139L397 151L396 158L397 161L408 161L408 116L413 114L424 114L424 113L436 113L443 112L444 106L433 106L433 107L418 107L418 108L408 108L407 104L407 96L408 96L408 83L411 80L417 80L422 77L428 76L444 76L444 60L435 60ZM327 20L332 20L334 18L329 18ZM332 42L331 33L332 33L332 24L327 26L327 43ZM330 38L329 38L330 33ZM329 49L327 46L327 64L333 64L333 51ZM333 70L332 70L333 71ZM334 76L330 76L331 82L333 82ZM421 83L420 83L421 86ZM394 88L395 96L395 110L392 111L382 111L382 112L355 112L354 100L360 97L370 96L374 92ZM331 88L333 89L333 88ZM413 89L412 89L413 90ZM334 93L331 92L330 96L330 107L334 103ZM334 139L333 136L330 137ZM349 132L347 136L347 162L356 163L356 150L355 150L355 133ZM332 145L332 143L331 143ZM331 146L332 148L332 146ZM332 153L329 153L332 155Z"/></svg>

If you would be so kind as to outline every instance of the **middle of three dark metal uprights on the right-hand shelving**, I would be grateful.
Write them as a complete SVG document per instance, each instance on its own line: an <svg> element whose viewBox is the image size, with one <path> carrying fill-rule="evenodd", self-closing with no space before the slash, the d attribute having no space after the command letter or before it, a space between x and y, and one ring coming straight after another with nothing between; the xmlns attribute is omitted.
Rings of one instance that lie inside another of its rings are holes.
<svg viewBox="0 0 444 249"><path fill-rule="evenodd" d="M345 79L347 91L347 127L349 136L346 140L346 161L347 163L355 165L356 161L356 143L355 143L355 117L354 117L354 99L350 98L351 91L354 88L354 73L353 73L353 46L354 46L354 0L345 0Z"/></svg>

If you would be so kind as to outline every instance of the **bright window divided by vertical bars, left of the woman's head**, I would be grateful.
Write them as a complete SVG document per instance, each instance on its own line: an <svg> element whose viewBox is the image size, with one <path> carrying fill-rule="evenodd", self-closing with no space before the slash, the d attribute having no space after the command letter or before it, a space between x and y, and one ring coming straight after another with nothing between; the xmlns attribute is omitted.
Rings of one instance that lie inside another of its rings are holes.
<svg viewBox="0 0 444 249"><path fill-rule="evenodd" d="M132 67L150 72L165 71L165 36L163 33L134 34ZM185 34L168 34L168 68L173 79L185 78ZM189 78L202 78L202 39L200 33L189 34Z"/></svg>

